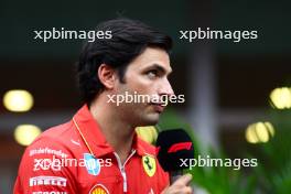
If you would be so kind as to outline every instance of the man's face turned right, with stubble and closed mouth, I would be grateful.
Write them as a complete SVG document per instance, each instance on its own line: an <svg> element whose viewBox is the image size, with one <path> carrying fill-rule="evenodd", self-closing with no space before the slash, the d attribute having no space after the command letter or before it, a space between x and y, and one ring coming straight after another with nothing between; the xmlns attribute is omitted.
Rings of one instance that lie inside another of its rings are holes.
<svg viewBox="0 0 291 194"><path fill-rule="evenodd" d="M170 58L165 51L146 48L128 65L123 78L125 84L118 82L116 87L117 94L125 95L127 91L132 96L144 95L146 101L120 104L121 117L137 126L155 125L165 108L162 96L164 99L165 96L173 95L173 89L168 80L171 72Z"/></svg>

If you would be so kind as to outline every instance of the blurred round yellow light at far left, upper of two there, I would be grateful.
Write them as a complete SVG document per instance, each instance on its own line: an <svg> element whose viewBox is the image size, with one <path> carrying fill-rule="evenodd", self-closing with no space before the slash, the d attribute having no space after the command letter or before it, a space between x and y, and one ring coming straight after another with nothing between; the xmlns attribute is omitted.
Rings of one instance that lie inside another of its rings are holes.
<svg viewBox="0 0 291 194"><path fill-rule="evenodd" d="M4 94L3 105L10 111L28 111L33 106L33 96L22 89L9 90Z"/></svg>

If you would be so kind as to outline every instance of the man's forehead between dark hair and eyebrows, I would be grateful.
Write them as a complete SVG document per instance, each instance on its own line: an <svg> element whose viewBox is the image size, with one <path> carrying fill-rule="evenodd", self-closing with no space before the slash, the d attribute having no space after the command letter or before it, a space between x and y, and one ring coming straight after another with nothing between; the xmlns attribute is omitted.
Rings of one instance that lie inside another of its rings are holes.
<svg viewBox="0 0 291 194"><path fill-rule="evenodd" d="M144 69L151 66L161 66L165 72L171 72L169 54L161 48L147 47L137 58L128 66L131 69Z"/></svg>

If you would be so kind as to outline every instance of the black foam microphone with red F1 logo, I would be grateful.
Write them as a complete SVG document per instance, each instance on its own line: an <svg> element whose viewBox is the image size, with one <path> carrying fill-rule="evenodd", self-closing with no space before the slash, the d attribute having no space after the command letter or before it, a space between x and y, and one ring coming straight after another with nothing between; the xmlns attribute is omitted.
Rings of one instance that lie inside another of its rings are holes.
<svg viewBox="0 0 291 194"><path fill-rule="evenodd" d="M158 160L164 171L170 173L170 183L183 175L182 161L194 159L194 147L183 129L161 131L157 140Z"/></svg>

